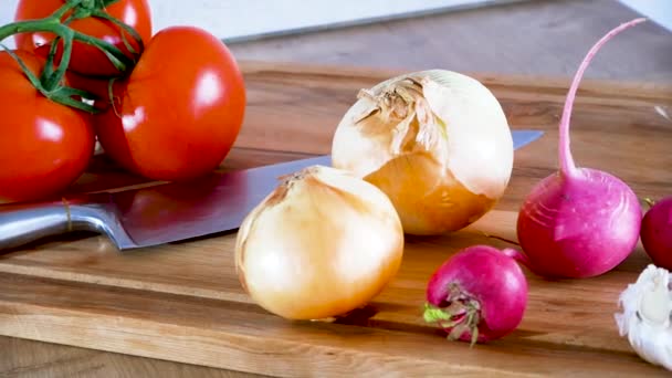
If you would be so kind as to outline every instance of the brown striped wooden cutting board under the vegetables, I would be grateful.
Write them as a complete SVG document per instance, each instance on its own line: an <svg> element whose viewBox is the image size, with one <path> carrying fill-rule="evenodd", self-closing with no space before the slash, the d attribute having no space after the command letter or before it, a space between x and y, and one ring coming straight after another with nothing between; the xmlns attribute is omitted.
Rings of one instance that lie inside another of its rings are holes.
<svg viewBox="0 0 672 378"><path fill-rule="evenodd" d="M244 62L249 108L221 169L328 154L332 133L360 87L399 72ZM546 135L516 151L496 210L444 237L407 239L399 274L367 307L333 322L273 316L241 288L235 233L129 253L103 237L52 238L0 255L0 334L276 376L665 376L618 335L618 295L650 260L637 251L612 272L552 282L526 272L518 329L473 348L421 318L424 285L461 248L511 244L516 210L556 169L567 78L475 75L501 99L512 128ZM618 175L641 197L672 195L672 88L586 81L573 117L580 166ZM74 192L143 182L98 156ZM515 245L514 245L515 246Z"/></svg>

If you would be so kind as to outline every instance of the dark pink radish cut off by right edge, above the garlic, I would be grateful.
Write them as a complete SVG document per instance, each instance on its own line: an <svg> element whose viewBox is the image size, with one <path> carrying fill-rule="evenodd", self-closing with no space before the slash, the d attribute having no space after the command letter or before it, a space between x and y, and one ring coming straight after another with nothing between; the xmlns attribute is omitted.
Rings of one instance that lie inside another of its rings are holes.
<svg viewBox="0 0 672 378"><path fill-rule="evenodd" d="M653 263L672 270L672 197L651 206L642 219L640 235Z"/></svg>

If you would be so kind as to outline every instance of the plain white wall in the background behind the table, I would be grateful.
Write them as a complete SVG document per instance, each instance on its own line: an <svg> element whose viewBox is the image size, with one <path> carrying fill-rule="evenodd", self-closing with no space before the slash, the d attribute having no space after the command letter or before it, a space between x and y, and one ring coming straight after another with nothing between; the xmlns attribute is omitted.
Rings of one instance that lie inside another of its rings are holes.
<svg viewBox="0 0 672 378"><path fill-rule="evenodd" d="M234 41L512 1L521 0L149 0L149 4L155 31L192 24ZM672 0L620 1L672 31ZM0 24L12 20L17 2L0 0ZM3 43L13 46L12 39Z"/></svg>

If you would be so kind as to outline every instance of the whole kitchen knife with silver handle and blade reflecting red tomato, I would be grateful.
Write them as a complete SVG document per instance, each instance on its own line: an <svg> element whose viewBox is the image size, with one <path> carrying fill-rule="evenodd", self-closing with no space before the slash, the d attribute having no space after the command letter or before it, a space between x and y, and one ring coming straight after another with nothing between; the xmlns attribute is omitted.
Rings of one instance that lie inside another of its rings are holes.
<svg viewBox="0 0 672 378"><path fill-rule="evenodd" d="M514 130L514 148L543 132ZM105 234L119 250L151 246L231 231L277 185L279 177L329 156L211 174L189 182L161 183L43 203L0 206L0 250L72 231Z"/></svg>

